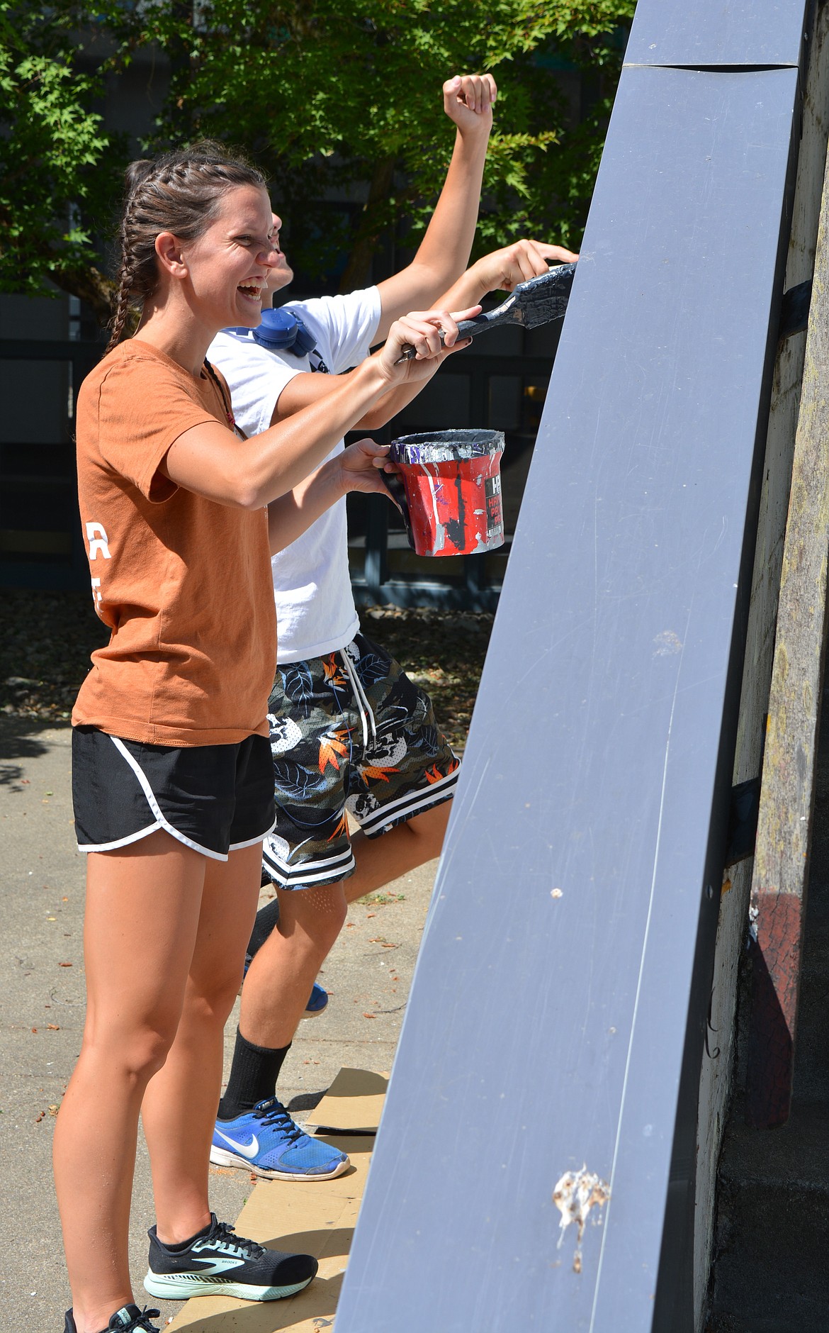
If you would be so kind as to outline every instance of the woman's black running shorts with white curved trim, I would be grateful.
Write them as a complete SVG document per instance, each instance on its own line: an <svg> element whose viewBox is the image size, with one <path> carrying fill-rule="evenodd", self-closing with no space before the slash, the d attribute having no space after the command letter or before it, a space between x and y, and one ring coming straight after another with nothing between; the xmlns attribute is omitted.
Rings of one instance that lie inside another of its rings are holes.
<svg viewBox="0 0 829 1333"><path fill-rule="evenodd" d="M165 829L215 861L260 842L276 820L265 736L237 745L144 745L96 726L72 732L80 852L112 852Z"/></svg>

